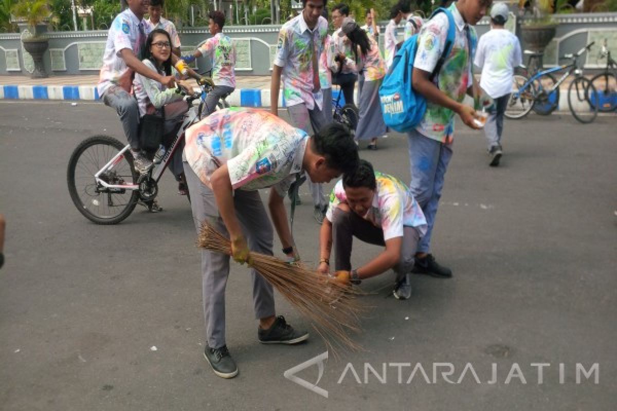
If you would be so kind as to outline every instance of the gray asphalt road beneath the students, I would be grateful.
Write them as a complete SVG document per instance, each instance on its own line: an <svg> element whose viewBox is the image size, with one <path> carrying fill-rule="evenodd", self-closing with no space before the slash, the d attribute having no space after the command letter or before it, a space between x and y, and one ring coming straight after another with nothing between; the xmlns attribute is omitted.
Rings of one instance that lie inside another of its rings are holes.
<svg viewBox="0 0 617 411"><path fill-rule="evenodd" d="M325 344L315 333L300 346L257 343L249 275L238 265L227 341L240 373L213 375L202 357L196 234L170 176L164 213L138 208L122 224L96 226L75 209L68 157L91 134L122 136L112 110L0 102L0 409L614 410L616 126L615 117L588 126L557 115L507 121L496 169L482 134L458 126L433 235L454 277L415 277L409 301L388 297L392 272L363 283L373 292L362 297L368 311L356 337L366 351L329 353L318 383L326 399L283 376ZM408 181L404 136L360 154ZM302 197L297 241L315 262L306 187ZM378 252L355 243L354 264ZM308 326L277 304L291 324ZM532 365L540 363L550 365ZM589 379L579 369L577 382L577 364ZM298 376L313 383L318 368Z"/></svg>

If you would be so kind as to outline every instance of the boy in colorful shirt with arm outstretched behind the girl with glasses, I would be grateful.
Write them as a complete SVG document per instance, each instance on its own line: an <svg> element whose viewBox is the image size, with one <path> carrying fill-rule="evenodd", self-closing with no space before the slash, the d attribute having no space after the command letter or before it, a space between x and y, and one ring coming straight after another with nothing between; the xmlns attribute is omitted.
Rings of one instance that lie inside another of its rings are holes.
<svg viewBox="0 0 617 411"><path fill-rule="evenodd" d="M207 39L193 55L182 57L182 59L187 63L193 62L202 55L209 59L210 67L212 67L212 81L215 84L212 92L205 99L206 113L210 115L217 108L218 100L230 95L236 88L236 46L229 36L223 34L225 14L214 11L210 12L208 17L210 18L208 30L212 37Z"/></svg>

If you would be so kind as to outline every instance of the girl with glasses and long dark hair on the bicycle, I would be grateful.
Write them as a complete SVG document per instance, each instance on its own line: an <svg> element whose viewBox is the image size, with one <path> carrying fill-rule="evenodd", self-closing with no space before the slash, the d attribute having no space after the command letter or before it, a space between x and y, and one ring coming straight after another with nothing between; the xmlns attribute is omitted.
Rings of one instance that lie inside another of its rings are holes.
<svg viewBox="0 0 617 411"><path fill-rule="evenodd" d="M167 31L162 29L152 30L146 40L143 63L148 68L157 71L157 73L161 75L175 75L176 78L178 78L176 83L190 91L192 89L191 85L180 80L180 73L172 66L171 44L171 39ZM173 136L175 136L178 127L183 121L184 114L189 109L188 104L183 100L183 94L180 93L180 89L167 88L164 84L139 74L135 76L133 89L135 91L135 97L138 100L141 126L146 127L145 123L147 121L152 121L152 116L155 116L155 123L160 123L164 120L162 141L151 141L150 146L152 147L152 145L154 145L158 148L157 143L163 143L165 145L165 142L170 140L169 137L173 138ZM159 118L160 121L156 121L157 118ZM147 138L152 136L144 137ZM182 168L183 149L184 142L181 142L180 147L178 147L173 155L172 161L169 163L169 169L175 176L176 181L178 181L178 193L186 195L188 189L186 187L186 182L184 182ZM147 153L147 157L152 158L154 153L155 151ZM147 172L147 169L139 169L138 171L143 173L144 171Z"/></svg>

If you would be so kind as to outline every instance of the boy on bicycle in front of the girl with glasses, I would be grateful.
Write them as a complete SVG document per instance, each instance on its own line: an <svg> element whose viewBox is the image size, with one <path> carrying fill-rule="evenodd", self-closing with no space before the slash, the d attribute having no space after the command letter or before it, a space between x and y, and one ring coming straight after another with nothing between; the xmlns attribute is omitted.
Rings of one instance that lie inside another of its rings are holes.
<svg viewBox="0 0 617 411"><path fill-rule="evenodd" d="M146 157L139 144L139 108L137 100L131 95L133 79L135 73L139 73L165 87L173 88L175 78L160 75L138 59L152 30L151 25L144 20L149 2L126 0L126 4L128 8L114 18L109 29L97 91L104 104L115 108L120 116L124 134L131 145L136 171L147 173L152 167L152 161Z"/></svg>

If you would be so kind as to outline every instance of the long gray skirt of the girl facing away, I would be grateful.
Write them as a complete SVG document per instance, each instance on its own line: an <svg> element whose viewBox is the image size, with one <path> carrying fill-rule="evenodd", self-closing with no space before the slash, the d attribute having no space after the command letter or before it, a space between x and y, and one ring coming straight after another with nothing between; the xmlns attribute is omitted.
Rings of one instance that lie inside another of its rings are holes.
<svg viewBox="0 0 617 411"><path fill-rule="evenodd" d="M362 85L362 94L360 94L358 101L360 120L355 129L355 139L357 140L381 137L387 132L386 123L384 123L381 114L381 105L379 105L379 86L381 86L382 81L383 79L365 80Z"/></svg>

